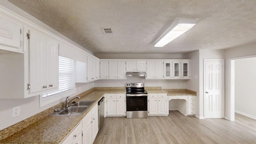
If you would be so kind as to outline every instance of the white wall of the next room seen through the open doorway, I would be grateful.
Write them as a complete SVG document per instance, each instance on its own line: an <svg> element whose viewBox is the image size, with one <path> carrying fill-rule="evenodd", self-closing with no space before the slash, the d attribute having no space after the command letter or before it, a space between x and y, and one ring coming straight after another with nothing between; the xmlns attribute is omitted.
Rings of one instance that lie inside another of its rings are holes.
<svg viewBox="0 0 256 144"><path fill-rule="evenodd" d="M256 118L256 58L235 60L235 110Z"/></svg>

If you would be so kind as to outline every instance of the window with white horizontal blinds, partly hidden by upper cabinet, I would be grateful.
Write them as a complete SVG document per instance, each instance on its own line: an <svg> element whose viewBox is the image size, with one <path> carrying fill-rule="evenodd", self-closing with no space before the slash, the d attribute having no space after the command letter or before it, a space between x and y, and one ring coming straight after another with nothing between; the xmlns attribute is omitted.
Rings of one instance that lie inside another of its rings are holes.
<svg viewBox="0 0 256 144"><path fill-rule="evenodd" d="M59 56L59 89L40 96L40 106L45 106L74 93L74 60Z"/></svg>

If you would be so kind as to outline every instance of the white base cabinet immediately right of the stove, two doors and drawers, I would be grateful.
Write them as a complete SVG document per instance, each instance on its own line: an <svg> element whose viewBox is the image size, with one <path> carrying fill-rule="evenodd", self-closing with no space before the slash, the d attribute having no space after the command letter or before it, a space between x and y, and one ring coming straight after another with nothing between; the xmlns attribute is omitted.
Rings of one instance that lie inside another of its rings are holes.
<svg viewBox="0 0 256 144"><path fill-rule="evenodd" d="M148 94L148 116L168 116L167 94Z"/></svg>

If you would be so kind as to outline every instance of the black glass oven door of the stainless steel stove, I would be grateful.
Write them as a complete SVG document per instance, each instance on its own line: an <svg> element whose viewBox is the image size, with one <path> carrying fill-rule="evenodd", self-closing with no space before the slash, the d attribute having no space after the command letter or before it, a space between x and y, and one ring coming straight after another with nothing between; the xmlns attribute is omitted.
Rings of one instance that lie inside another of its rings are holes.
<svg viewBox="0 0 256 144"><path fill-rule="evenodd" d="M127 96L126 111L148 111L148 96Z"/></svg>

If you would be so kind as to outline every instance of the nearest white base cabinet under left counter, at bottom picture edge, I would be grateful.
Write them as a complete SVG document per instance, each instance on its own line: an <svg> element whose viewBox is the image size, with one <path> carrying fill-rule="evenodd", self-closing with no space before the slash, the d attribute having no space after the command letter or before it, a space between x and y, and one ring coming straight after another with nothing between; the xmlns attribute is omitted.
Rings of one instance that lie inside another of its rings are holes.
<svg viewBox="0 0 256 144"><path fill-rule="evenodd" d="M80 142L78 144L81 144L82 140L82 122L80 122L71 132L68 134L68 136L65 138L64 141L62 141L61 144L76 144L76 142Z"/></svg>

